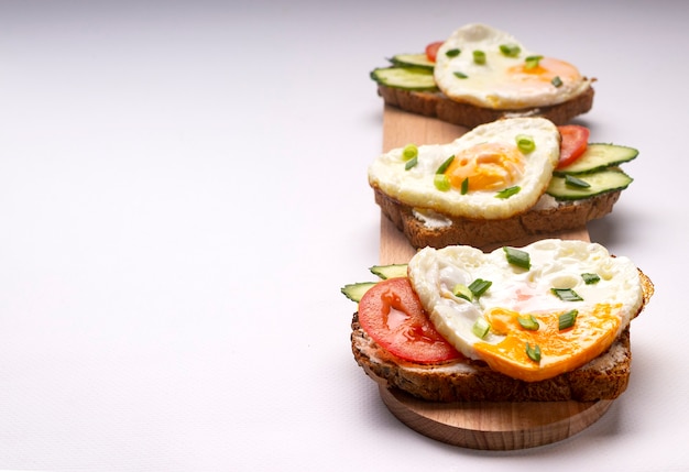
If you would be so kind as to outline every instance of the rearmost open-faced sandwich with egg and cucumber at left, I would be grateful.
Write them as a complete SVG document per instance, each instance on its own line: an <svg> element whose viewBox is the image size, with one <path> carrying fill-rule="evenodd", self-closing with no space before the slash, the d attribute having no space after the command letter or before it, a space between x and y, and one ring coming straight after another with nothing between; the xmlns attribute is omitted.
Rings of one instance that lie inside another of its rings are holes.
<svg viewBox="0 0 689 472"><path fill-rule="evenodd" d="M593 106L594 79L484 24L390 61L371 72L385 103L467 128L532 116L564 124Z"/></svg>

